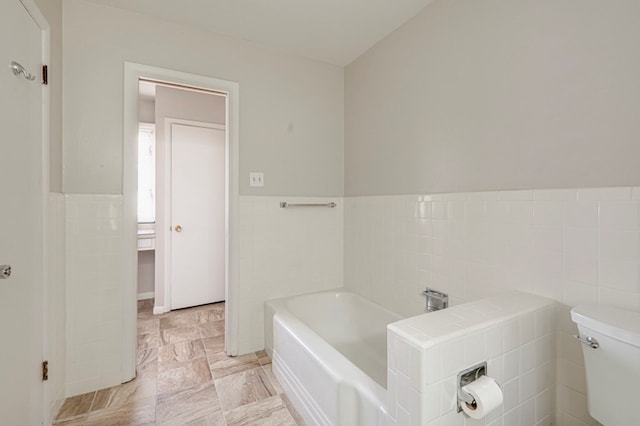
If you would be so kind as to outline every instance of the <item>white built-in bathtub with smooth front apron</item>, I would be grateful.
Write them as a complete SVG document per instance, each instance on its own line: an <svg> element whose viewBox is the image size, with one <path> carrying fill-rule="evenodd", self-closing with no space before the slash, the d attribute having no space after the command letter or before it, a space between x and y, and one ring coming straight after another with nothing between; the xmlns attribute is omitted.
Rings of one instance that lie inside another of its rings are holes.
<svg viewBox="0 0 640 426"><path fill-rule="evenodd" d="M307 424L386 424L386 327L400 315L344 291L265 305L274 374Z"/></svg>

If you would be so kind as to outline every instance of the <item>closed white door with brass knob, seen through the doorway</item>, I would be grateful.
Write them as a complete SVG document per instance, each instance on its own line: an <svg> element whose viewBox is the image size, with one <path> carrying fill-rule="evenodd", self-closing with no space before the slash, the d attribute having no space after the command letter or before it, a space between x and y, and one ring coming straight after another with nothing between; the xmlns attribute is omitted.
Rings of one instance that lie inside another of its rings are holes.
<svg viewBox="0 0 640 426"><path fill-rule="evenodd" d="M225 131L171 125L171 309L225 297Z"/></svg>

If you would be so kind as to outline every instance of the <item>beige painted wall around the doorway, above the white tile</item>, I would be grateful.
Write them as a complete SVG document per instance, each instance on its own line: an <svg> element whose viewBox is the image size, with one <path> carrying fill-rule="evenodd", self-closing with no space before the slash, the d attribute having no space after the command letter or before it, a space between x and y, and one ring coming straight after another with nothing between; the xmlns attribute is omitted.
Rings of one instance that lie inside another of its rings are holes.
<svg viewBox="0 0 640 426"><path fill-rule="evenodd" d="M65 192L122 192L130 61L239 82L241 194L342 194L342 68L82 0L64 0L64 49Z"/></svg>

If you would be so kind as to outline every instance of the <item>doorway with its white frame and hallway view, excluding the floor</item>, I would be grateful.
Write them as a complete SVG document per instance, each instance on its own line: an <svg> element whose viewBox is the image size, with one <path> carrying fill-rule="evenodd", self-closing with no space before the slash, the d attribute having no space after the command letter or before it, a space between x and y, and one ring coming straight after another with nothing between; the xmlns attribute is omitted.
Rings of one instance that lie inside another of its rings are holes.
<svg viewBox="0 0 640 426"><path fill-rule="evenodd" d="M239 196L237 83L125 63L124 95L123 382L135 377L138 299L153 297L155 314L225 300L225 352L238 354Z"/></svg>

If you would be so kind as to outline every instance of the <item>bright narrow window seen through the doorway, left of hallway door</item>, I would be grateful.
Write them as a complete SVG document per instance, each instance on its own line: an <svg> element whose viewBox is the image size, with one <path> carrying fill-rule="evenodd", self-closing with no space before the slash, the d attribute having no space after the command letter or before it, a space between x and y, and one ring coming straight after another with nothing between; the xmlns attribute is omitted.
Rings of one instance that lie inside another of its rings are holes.
<svg viewBox="0 0 640 426"><path fill-rule="evenodd" d="M156 221L156 132L153 124L138 126L138 223Z"/></svg>

